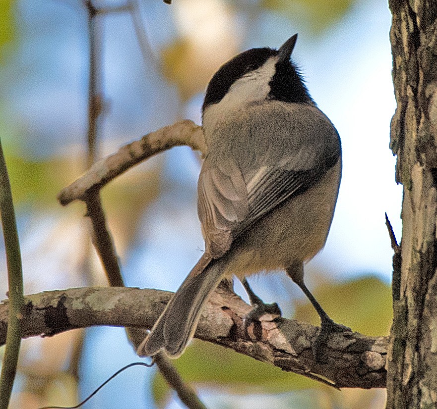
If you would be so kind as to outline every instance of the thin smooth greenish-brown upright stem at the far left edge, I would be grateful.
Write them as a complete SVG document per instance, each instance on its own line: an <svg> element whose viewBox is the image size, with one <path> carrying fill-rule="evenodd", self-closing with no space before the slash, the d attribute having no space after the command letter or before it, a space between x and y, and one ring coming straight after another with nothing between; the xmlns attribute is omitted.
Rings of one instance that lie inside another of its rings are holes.
<svg viewBox="0 0 437 409"><path fill-rule="evenodd" d="M9 405L21 344L20 318L24 311L23 272L9 176L0 141L0 215L6 251L8 296L6 349L0 375L0 409Z"/></svg>

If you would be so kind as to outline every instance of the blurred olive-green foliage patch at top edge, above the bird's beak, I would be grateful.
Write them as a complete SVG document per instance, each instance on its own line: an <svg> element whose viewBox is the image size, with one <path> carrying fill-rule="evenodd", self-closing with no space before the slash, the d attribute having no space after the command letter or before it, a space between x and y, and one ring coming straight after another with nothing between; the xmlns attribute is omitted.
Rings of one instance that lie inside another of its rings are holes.
<svg viewBox="0 0 437 409"><path fill-rule="evenodd" d="M310 28L319 33L338 20L353 0L261 0L261 6L289 18L302 15Z"/></svg>

